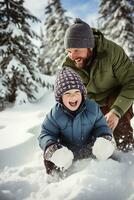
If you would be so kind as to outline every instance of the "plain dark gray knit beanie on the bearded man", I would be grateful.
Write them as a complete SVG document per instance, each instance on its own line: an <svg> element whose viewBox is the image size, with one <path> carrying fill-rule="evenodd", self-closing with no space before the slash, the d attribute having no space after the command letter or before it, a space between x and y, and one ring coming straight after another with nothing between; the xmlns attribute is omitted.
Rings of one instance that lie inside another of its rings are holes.
<svg viewBox="0 0 134 200"><path fill-rule="evenodd" d="M79 18L76 18L65 33L64 47L94 48L94 35L91 27Z"/></svg>

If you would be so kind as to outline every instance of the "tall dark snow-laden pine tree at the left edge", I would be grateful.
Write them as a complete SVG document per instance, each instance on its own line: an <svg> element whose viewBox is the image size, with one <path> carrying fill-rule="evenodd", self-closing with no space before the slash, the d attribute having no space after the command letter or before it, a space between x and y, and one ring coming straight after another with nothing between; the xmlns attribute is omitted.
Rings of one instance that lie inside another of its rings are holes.
<svg viewBox="0 0 134 200"><path fill-rule="evenodd" d="M37 37L29 21L38 22L24 0L0 2L0 102L14 102L19 92L35 98L39 71L31 39Z"/></svg>

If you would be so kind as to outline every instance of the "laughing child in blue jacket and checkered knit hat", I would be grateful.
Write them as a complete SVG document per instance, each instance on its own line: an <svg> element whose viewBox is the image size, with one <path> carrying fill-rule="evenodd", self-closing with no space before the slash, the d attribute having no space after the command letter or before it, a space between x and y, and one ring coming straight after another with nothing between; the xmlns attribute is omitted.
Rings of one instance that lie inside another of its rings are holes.
<svg viewBox="0 0 134 200"><path fill-rule="evenodd" d="M38 138L48 174L56 169L51 158L59 149L67 147L73 152L74 159L85 158L91 155L90 147L97 138L112 139L111 129L99 106L86 99L86 88L71 68L65 67L59 71L54 91L57 104L47 114Z"/></svg>

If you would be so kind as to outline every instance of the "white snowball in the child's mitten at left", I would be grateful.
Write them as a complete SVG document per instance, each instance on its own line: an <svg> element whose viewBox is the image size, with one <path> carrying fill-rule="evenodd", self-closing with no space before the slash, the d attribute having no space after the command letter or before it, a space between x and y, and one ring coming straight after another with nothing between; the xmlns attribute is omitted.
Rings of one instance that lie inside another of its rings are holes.
<svg viewBox="0 0 134 200"><path fill-rule="evenodd" d="M60 169L68 169L72 165L74 155L67 147L62 147L56 150L50 161Z"/></svg>

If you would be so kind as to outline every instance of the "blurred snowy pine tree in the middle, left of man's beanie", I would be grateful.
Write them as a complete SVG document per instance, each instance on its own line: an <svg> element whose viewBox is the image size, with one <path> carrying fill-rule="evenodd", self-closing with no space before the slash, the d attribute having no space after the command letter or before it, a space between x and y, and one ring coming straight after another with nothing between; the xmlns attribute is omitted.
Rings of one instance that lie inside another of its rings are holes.
<svg viewBox="0 0 134 200"><path fill-rule="evenodd" d="M43 73L53 75L65 57L64 35L70 18L65 15L60 0L48 1L42 28L40 65Z"/></svg>

